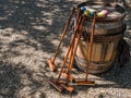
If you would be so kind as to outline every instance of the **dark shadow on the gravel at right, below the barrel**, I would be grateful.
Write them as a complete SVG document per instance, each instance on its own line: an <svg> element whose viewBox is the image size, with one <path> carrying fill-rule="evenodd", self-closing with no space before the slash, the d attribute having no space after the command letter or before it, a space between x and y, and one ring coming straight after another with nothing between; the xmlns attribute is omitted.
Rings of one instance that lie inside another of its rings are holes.
<svg viewBox="0 0 131 98"><path fill-rule="evenodd" d="M131 71L130 63L131 62L129 62L123 68L119 68L118 63L116 63L115 66L110 69L109 71L107 71L106 73L97 75L100 78L103 78L103 81L110 81L110 82L114 82L114 84L102 84L102 85L97 85L96 88L97 87L104 87L104 88L112 87L112 88L130 89L131 88L131 77L129 75Z"/></svg>

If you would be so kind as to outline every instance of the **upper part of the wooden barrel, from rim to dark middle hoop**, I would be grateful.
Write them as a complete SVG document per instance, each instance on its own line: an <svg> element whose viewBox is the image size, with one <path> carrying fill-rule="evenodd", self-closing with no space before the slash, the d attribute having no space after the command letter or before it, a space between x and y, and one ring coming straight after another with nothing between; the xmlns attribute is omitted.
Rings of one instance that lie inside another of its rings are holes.
<svg viewBox="0 0 131 98"><path fill-rule="evenodd" d="M96 12L100 12L105 9L108 10L106 17L96 19L97 22L95 24L94 35L112 35L123 29L126 10L121 5L109 2L87 1L78 5L78 8L81 7L93 9ZM92 30L92 17L90 15L86 16L86 21L84 22L84 30L87 33Z"/></svg>

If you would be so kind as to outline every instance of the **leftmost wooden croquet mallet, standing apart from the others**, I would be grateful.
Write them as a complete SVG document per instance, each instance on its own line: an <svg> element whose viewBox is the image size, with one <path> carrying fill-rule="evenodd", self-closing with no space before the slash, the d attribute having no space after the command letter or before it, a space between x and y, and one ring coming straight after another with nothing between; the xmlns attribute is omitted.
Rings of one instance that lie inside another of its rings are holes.
<svg viewBox="0 0 131 98"><path fill-rule="evenodd" d="M60 40L60 42L59 42L59 45L58 45L58 47L57 47L57 50L56 50L56 52L55 52L55 57L53 57L52 59L47 60L47 63L49 64L49 68L50 68L51 71L56 71L55 60L56 60L56 58L57 58L59 48L60 48L60 46L61 46L61 44L62 44L62 41L63 41L64 35L66 35L66 33L67 33L67 30L68 30L70 21L71 21L71 19L72 19L73 13L74 13L74 10L75 10L75 8L72 9L72 11L71 11L71 13L70 13L70 16L69 16L69 20L68 20L68 22L67 22L67 24L66 24L66 26L64 26L64 28L63 28L63 30L62 30L61 40Z"/></svg>

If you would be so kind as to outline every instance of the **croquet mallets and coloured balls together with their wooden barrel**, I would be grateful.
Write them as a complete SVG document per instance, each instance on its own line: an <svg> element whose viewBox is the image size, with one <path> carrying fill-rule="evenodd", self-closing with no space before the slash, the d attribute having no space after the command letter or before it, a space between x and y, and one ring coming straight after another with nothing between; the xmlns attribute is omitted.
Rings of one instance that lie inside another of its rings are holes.
<svg viewBox="0 0 131 98"><path fill-rule="evenodd" d="M73 33L58 77L48 79L48 83L60 93L74 91L74 87L70 83L79 86L96 85L94 81L88 79L88 74L103 73L111 68L117 56L117 47L123 39L126 30L124 9L117 3L87 1L80 3L78 8L72 8L55 56L47 60L53 72L57 70L55 61L58 51L73 16L75 16ZM85 74L84 78L72 76L74 60Z"/></svg>

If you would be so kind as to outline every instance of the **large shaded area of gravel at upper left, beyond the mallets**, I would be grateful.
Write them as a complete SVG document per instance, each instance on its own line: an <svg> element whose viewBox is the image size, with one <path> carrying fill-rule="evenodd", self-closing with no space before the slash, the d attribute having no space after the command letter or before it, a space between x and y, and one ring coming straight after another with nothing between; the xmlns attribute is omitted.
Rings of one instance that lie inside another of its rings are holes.
<svg viewBox="0 0 131 98"><path fill-rule="evenodd" d="M61 4L62 3L62 4ZM56 50L53 40L59 40L66 20L74 1L4 0L0 1L0 28L13 28L40 44L46 52ZM26 32L26 35L24 34ZM26 40L23 41L26 44ZM37 45L33 46L39 49Z"/></svg>

